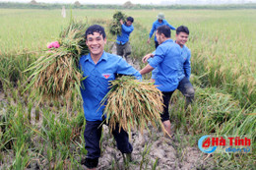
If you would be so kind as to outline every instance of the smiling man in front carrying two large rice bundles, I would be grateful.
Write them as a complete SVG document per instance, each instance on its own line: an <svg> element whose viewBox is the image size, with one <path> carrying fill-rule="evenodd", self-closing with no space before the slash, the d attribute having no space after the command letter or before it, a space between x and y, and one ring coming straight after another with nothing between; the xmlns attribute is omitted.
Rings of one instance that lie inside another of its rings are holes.
<svg viewBox="0 0 256 170"><path fill-rule="evenodd" d="M86 43L90 53L80 59L80 68L83 71L84 87L81 88L83 107L86 118L84 138L88 151L85 164L89 169L96 169L100 156L99 140L101 137L104 105L101 100L109 91L109 81L115 80L116 74L136 76L141 75L120 56L104 52L106 43L104 28L94 25L86 31ZM118 125L112 131L117 148L122 153L131 153L133 147L128 140L128 134Z"/></svg>

